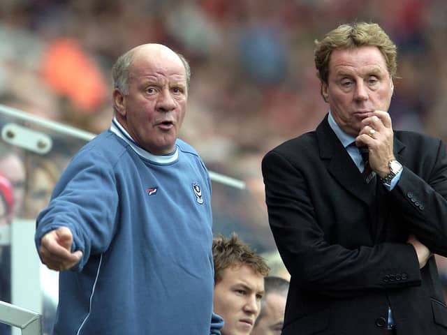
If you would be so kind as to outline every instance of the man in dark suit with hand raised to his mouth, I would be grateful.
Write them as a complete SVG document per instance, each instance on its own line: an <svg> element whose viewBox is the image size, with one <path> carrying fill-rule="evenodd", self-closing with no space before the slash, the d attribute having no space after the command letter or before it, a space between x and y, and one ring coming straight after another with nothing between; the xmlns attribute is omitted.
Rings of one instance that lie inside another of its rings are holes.
<svg viewBox="0 0 447 335"><path fill-rule="evenodd" d="M397 51L377 24L316 42L328 115L265 155L270 227L291 274L282 334L447 334L440 140L393 131Z"/></svg>

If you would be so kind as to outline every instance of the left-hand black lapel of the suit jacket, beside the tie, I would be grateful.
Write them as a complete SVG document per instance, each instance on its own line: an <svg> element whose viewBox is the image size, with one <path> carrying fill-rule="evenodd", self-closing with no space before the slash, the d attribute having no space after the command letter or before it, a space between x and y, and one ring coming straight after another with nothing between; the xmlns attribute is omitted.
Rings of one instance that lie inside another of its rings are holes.
<svg viewBox="0 0 447 335"><path fill-rule="evenodd" d="M316 128L316 137L321 160L325 162L330 174L346 191L368 204L371 188L368 187L342 142L330 128L328 116Z"/></svg>

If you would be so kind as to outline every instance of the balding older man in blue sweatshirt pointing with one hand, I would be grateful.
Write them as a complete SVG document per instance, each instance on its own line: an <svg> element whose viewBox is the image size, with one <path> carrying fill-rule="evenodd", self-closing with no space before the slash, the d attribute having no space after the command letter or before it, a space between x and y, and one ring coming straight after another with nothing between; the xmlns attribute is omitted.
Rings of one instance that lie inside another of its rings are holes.
<svg viewBox="0 0 447 335"><path fill-rule="evenodd" d="M54 334L220 334L210 178L177 138L189 65L147 44L112 75L110 129L75 155L37 218L41 260L61 271Z"/></svg>

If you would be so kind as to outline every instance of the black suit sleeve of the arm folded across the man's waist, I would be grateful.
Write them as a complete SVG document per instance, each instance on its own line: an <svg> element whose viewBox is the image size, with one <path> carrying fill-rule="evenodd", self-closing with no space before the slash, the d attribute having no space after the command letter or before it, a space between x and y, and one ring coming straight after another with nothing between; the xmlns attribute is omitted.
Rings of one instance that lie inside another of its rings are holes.
<svg viewBox="0 0 447 335"><path fill-rule="evenodd" d="M411 244L384 242L347 248L330 243L323 230L323 224L330 223L317 221L309 184L300 170L271 152L263 160L263 176L274 239L288 271L302 287L346 296L420 285L420 262ZM390 276L400 280L388 281Z"/></svg>

